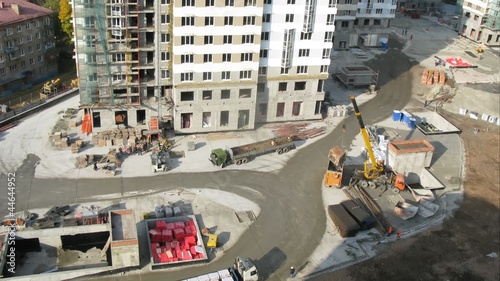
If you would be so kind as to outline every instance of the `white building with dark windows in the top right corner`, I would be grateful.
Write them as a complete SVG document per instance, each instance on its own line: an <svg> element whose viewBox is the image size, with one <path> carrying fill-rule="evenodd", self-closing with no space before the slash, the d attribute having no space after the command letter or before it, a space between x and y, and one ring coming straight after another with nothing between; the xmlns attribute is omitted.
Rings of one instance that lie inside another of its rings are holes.
<svg viewBox="0 0 500 281"><path fill-rule="evenodd" d="M500 0L459 0L460 34L489 46L500 46Z"/></svg>

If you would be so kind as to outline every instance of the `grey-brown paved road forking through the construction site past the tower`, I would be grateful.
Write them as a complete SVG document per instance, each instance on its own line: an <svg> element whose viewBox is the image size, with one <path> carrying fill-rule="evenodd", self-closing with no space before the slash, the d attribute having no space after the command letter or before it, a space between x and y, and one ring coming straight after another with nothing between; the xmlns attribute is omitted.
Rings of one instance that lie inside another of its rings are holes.
<svg viewBox="0 0 500 281"><path fill-rule="evenodd" d="M391 37L391 49L368 63L374 70L380 71L379 85L382 88L377 97L360 106L366 123L381 121L388 117L393 109L403 108L410 99L408 70L411 63L400 52L402 44ZM320 190L321 180L328 150L334 145L340 145L339 134L342 133L340 128L343 124L347 126L344 142L350 142L359 132L357 121L352 115L328 136L299 150L278 174L224 170L216 173L168 174L151 178L47 180L33 178L37 159L36 156L30 156L17 171L17 207L25 209L70 202L80 203L86 201L82 198L96 195L150 189L170 190L178 187L209 187L234 192L259 204L261 214L223 258L210 266L195 269L153 272L140 277L109 276L106 279L160 280L165 279L168 274L168 280L178 280L224 268L232 263L235 256L248 256L256 261L265 280L286 280L288 268L305 264L325 232L326 217ZM252 192L252 189L263 194L263 197ZM6 209L4 200L1 200L0 208ZM147 245L143 243L141 247ZM143 252L147 253L146 249Z"/></svg>

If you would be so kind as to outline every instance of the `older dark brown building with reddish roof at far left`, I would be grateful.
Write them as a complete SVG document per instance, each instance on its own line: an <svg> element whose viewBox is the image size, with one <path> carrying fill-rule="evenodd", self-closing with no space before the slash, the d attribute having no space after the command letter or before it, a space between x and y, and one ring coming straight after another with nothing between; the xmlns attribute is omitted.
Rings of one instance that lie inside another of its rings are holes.
<svg viewBox="0 0 500 281"><path fill-rule="evenodd" d="M0 93L57 74L53 12L25 0L0 0Z"/></svg>

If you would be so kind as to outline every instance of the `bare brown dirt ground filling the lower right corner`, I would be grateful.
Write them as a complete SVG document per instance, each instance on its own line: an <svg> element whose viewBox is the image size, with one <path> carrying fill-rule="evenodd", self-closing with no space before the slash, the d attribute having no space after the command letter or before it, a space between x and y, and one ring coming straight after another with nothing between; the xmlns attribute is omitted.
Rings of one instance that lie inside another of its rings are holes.
<svg viewBox="0 0 500 281"><path fill-rule="evenodd" d="M466 151L464 199L454 216L384 245L373 259L312 280L500 280L499 258L487 256L500 254L498 126L441 113L462 130Z"/></svg>

